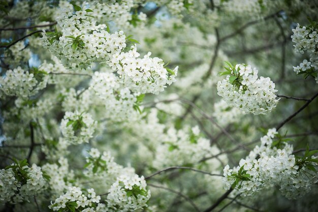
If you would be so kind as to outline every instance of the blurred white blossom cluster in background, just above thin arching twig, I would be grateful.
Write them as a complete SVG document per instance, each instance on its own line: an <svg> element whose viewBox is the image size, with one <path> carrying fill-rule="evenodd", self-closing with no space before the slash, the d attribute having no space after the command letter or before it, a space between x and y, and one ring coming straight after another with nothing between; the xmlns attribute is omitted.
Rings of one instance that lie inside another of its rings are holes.
<svg viewBox="0 0 318 212"><path fill-rule="evenodd" d="M198 126L189 130L169 128L162 139L164 142L157 146L153 161L153 167L157 169L196 164L215 153L210 141L200 136Z"/></svg>

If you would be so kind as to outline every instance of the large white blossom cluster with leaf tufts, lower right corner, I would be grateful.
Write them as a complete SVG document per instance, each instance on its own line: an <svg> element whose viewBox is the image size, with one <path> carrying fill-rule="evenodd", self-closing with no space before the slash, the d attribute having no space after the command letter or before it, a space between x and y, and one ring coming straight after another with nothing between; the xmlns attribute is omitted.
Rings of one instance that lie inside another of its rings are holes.
<svg viewBox="0 0 318 212"><path fill-rule="evenodd" d="M265 188L279 186L289 199L298 198L308 192L310 185L318 181L317 157L309 151L303 158L297 158L293 146L285 142L276 129L269 129L239 166L224 168L225 188L235 189L243 196L250 196ZM306 176L306 177L304 177Z"/></svg>

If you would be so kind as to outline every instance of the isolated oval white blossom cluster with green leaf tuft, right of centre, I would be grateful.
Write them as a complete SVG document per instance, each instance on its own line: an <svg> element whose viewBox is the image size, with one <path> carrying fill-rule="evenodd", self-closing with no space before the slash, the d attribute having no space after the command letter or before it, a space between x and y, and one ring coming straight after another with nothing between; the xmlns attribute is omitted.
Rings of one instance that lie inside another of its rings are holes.
<svg viewBox="0 0 318 212"><path fill-rule="evenodd" d="M250 65L237 64L225 67L226 79L217 83L217 94L229 106L239 108L245 113L266 114L276 107L275 84L269 77L258 79L258 70Z"/></svg>

